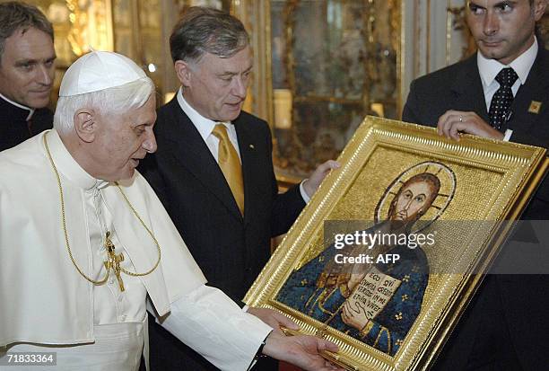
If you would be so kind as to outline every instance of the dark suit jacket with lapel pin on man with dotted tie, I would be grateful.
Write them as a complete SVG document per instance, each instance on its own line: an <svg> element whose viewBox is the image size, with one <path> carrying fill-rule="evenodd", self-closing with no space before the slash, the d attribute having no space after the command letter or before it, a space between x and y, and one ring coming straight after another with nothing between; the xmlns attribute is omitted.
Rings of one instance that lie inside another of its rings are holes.
<svg viewBox="0 0 549 371"><path fill-rule="evenodd" d="M542 102L537 114L528 111L533 101ZM476 55L415 80L410 85L402 119L436 127L438 119L447 110L472 110L489 122ZM549 146L549 51L541 45L526 84L518 89L511 112L507 125L502 128L513 130L511 141ZM549 219L547 207L549 180L545 180L536 192L523 218Z"/></svg>

